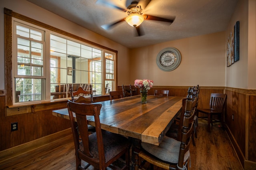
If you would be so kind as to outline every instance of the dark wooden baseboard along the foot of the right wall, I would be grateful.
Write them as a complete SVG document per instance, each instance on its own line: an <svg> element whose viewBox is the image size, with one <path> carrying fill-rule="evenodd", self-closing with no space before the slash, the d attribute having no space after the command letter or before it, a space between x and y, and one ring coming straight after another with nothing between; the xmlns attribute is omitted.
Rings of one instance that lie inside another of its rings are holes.
<svg viewBox="0 0 256 170"><path fill-rule="evenodd" d="M226 129L226 133L228 134L228 137L230 139L230 142L236 152L236 155L238 157L238 160L242 166L242 168L244 168L244 161L245 161L245 157L244 154L242 153L242 150L240 150L240 147L238 146L236 139L234 138L233 134L231 133L230 129L228 128L228 126L226 126L225 124L225 129Z"/></svg>

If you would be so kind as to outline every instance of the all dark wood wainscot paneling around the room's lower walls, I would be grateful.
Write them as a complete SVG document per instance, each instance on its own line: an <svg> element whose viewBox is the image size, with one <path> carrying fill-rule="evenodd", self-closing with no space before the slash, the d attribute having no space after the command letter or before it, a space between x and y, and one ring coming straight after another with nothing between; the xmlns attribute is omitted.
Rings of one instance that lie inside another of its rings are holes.
<svg viewBox="0 0 256 170"><path fill-rule="evenodd" d="M188 87L154 86L155 89L169 90L169 96L186 96ZM122 87L118 87L122 90ZM243 166L256 162L256 90L227 87L201 87L198 108L208 107L211 93L226 93L226 130ZM139 90L137 91L139 94ZM0 96L0 151L42 138L70 128L70 122L52 115L53 109L6 116L6 99ZM60 108L56 108L60 109ZM232 116L234 120L232 120ZM11 132L11 123L18 122L18 130Z"/></svg>

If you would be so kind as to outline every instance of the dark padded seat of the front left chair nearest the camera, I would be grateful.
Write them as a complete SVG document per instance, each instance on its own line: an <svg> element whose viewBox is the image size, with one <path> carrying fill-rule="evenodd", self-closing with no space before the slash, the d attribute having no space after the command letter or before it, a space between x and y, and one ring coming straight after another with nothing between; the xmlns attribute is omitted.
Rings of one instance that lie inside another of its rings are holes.
<svg viewBox="0 0 256 170"><path fill-rule="evenodd" d="M105 130L102 130L102 139L104 144L106 162L114 158L114 156L124 150L124 148L130 146L130 141L126 137ZM97 141L96 132L90 134L89 146L90 153L92 154L93 158L99 159L98 145L95 141ZM84 151L82 141L80 142L80 150L82 152Z"/></svg>

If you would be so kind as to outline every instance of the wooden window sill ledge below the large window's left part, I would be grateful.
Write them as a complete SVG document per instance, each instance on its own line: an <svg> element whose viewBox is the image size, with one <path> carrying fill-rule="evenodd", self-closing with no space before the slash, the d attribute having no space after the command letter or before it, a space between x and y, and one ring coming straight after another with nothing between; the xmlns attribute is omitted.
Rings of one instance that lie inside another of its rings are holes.
<svg viewBox="0 0 256 170"><path fill-rule="evenodd" d="M24 113L35 113L38 111L46 111L50 109L58 109L61 107L66 107L66 104L67 99L59 99L55 101L9 105L6 109L6 116L20 115Z"/></svg>

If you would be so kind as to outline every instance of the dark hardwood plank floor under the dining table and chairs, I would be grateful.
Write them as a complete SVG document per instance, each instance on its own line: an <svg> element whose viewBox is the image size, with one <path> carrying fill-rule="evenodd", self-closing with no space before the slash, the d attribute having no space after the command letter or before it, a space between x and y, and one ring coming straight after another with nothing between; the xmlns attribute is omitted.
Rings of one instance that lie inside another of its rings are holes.
<svg viewBox="0 0 256 170"><path fill-rule="evenodd" d="M199 124L196 146L191 144L190 170L242 170L226 132L218 126L207 132L207 125ZM1 170L75 170L72 136L52 142L0 163ZM150 166L145 164L143 169ZM89 170L94 170L89 167ZM155 167L156 170L161 170Z"/></svg>

